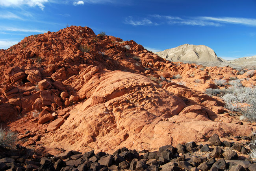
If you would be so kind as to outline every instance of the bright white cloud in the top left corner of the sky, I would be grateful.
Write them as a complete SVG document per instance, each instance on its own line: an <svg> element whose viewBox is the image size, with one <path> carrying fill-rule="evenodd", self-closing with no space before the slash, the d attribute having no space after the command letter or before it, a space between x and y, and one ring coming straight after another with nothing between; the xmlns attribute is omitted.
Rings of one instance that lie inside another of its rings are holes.
<svg viewBox="0 0 256 171"><path fill-rule="evenodd" d="M47 3L48 0L0 0L0 6L4 7L20 7L23 5L28 5L30 7L38 6L42 10L44 9L44 4Z"/></svg>

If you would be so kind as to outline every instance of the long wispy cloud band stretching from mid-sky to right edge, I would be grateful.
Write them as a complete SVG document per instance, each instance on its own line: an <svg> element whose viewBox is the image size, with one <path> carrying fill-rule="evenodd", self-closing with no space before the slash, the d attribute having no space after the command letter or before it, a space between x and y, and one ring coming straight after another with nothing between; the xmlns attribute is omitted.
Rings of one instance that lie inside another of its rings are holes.
<svg viewBox="0 0 256 171"><path fill-rule="evenodd" d="M189 26L223 26L224 24L241 24L246 26L256 26L254 18L236 18L236 17L177 17L167 15L149 15L147 18L135 20L133 17L127 17L126 24L133 26L146 26L155 23L155 25L189 25ZM157 24L156 24L157 23Z"/></svg>

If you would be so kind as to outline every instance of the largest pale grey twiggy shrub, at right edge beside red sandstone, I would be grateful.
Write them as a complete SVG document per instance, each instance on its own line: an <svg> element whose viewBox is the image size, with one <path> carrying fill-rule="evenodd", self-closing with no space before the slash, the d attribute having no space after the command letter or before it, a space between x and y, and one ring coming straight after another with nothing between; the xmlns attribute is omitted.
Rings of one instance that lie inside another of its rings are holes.
<svg viewBox="0 0 256 171"><path fill-rule="evenodd" d="M222 97L225 107L231 111L238 111L249 120L256 120L256 88L239 87Z"/></svg>

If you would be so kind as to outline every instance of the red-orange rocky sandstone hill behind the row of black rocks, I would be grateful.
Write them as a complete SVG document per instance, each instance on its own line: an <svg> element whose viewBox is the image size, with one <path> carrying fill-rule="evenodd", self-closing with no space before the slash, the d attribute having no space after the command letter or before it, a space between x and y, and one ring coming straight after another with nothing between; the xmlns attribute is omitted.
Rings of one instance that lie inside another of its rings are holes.
<svg viewBox="0 0 256 171"><path fill-rule="evenodd" d="M215 79L255 85L256 71L172 63L88 27L26 37L0 51L0 64L0 121L23 146L154 150L253 130L203 92L228 86Z"/></svg>

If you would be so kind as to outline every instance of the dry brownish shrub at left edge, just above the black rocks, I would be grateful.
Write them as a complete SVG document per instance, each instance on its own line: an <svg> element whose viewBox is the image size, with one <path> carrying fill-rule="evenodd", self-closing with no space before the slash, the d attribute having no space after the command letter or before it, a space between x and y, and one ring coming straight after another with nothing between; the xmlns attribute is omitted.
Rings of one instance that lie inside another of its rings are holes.
<svg viewBox="0 0 256 171"><path fill-rule="evenodd" d="M17 134L10 129L0 128L0 147L13 147L17 142Z"/></svg>

